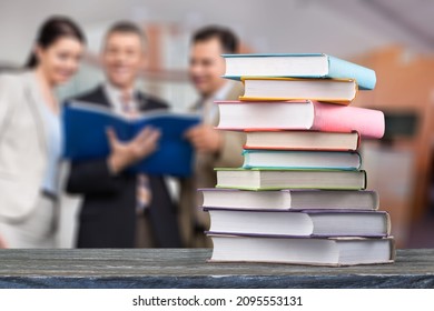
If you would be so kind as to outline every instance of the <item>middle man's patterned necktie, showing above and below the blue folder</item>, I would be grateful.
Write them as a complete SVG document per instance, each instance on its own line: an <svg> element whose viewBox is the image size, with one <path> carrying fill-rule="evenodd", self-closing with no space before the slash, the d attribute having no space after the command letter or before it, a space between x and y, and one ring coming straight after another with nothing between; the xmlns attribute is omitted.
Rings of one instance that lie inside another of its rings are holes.
<svg viewBox="0 0 434 311"><path fill-rule="evenodd" d="M127 118L136 119L139 117L137 109L134 107L134 101L131 94L122 93L120 97L120 103L122 106L122 112ZM152 199L152 193L150 191L149 178L146 174L137 175L137 213L142 213L148 207Z"/></svg>

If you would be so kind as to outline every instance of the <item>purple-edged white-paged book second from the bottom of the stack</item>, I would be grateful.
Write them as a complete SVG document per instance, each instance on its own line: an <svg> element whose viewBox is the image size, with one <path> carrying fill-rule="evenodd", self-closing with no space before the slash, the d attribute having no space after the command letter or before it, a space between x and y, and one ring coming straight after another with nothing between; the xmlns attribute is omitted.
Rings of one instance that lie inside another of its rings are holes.
<svg viewBox="0 0 434 311"><path fill-rule="evenodd" d="M236 210L205 208L213 233L295 237L386 237L391 220L385 211Z"/></svg>

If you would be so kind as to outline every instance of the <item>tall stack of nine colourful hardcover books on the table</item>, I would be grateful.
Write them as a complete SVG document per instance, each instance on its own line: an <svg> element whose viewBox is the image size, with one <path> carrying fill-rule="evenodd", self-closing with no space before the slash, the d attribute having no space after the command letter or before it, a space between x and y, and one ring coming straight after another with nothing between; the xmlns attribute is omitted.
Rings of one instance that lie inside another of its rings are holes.
<svg viewBox="0 0 434 311"><path fill-rule="evenodd" d="M371 69L326 54L226 54L239 101L218 101L218 129L245 131L244 165L200 189L210 261L352 265L393 262L391 221L366 189L357 149L384 114L349 107Z"/></svg>

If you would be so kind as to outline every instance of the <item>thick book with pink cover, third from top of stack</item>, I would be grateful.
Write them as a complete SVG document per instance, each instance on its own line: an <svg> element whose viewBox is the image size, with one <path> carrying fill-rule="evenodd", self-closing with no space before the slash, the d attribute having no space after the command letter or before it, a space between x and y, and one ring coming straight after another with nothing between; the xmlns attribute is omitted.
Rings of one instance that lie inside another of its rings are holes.
<svg viewBox="0 0 434 311"><path fill-rule="evenodd" d="M362 138L379 139L385 123L382 111L309 100L279 102L216 101L221 130L357 131Z"/></svg>

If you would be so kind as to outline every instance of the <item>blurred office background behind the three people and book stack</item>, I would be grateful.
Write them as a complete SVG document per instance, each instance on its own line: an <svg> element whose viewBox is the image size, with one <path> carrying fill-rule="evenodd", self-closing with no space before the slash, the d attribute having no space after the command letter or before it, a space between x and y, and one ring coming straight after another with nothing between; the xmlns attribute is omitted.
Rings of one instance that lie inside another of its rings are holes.
<svg viewBox="0 0 434 311"><path fill-rule="evenodd" d="M78 76L62 98L102 80L98 51L106 29L132 20L149 38L150 68L140 88L185 111L190 34L205 24L230 27L243 52L323 52L374 69L377 87L355 106L381 109L386 136L364 141L368 188L379 192L398 247L434 247L434 1L428 0L0 0L0 69L20 67L37 27L50 14L77 20L88 38ZM63 214L72 215L75 200ZM65 217L65 230L72 228ZM69 232L69 233L68 233ZM63 235L68 247L70 229Z"/></svg>

